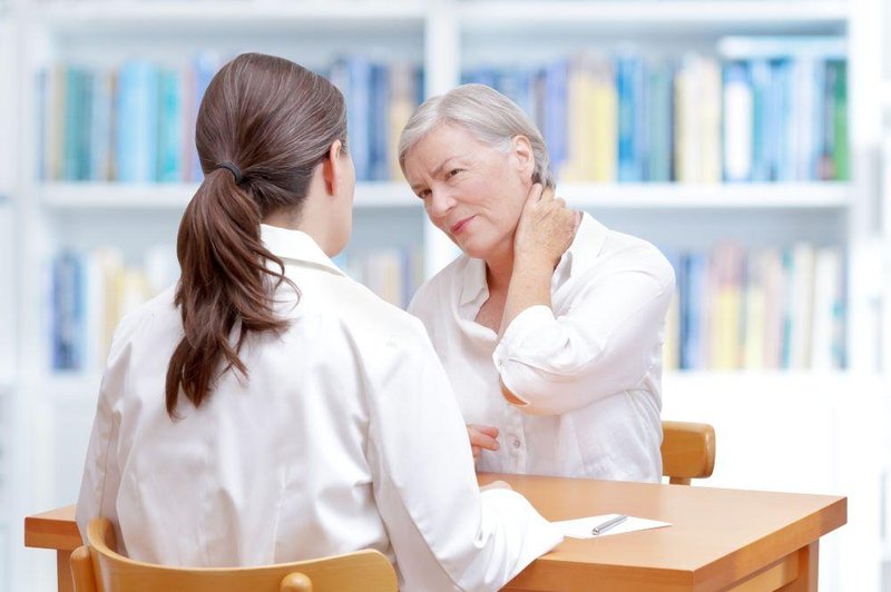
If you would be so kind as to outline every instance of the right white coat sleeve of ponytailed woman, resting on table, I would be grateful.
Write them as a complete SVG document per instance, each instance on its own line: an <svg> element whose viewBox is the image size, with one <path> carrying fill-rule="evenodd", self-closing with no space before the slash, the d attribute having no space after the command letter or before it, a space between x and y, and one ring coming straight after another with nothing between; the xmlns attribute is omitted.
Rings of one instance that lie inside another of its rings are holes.
<svg viewBox="0 0 891 592"><path fill-rule="evenodd" d="M497 590L562 535L520 494L480 494L464 422L420 323L369 394L369 458L403 590Z"/></svg>

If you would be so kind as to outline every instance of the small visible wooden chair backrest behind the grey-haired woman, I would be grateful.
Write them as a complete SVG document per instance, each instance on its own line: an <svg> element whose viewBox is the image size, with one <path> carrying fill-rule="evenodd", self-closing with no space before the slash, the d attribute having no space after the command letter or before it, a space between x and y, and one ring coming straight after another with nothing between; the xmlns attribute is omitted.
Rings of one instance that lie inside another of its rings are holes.
<svg viewBox="0 0 891 592"><path fill-rule="evenodd" d="M715 428L689 422L662 423L662 474L668 483L689 485L715 468Z"/></svg>

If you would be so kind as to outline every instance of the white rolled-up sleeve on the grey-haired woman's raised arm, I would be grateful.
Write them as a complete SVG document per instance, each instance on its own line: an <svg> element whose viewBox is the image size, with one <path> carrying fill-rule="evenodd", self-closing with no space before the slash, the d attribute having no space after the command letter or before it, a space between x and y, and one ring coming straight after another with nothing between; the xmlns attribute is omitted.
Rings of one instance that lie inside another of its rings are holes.
<svg viewBox="0 0 891 592"><path fill-rule="evenodd" d="M662 255L645 263L598 275L566 314L532 306L517 315L492 359L523 412L562 414L640 383L662 344L675 285Z"/></svg>

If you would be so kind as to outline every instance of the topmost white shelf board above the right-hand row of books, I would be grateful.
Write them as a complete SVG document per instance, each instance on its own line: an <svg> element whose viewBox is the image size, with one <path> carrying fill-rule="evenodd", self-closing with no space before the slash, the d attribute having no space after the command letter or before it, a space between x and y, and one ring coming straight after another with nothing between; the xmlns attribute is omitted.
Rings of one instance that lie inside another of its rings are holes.
<svg viewBox="0 0 891 592"><path fill-rule="evenodd" d="M468 30L510 30L540 27L565 30L585 27L588 30L614 31L657 26L666 22L675 31L735 31L758 27L775 32L817 32L844 28L849 3L844 1L466 1L460 19Z"/></svg>

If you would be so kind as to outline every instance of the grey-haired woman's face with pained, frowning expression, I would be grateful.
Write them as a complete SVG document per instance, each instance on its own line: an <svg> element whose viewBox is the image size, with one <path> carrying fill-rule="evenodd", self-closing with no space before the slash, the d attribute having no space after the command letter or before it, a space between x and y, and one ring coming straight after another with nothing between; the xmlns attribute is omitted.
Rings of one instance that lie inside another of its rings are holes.
<svg viewBox="0 0 891 592"><path fill-rule="evenodd" d="M449 124L405 156L405 177L430 220L461 250L486 260L512 250L533 167L525 138L505 152Z"/></svg>

